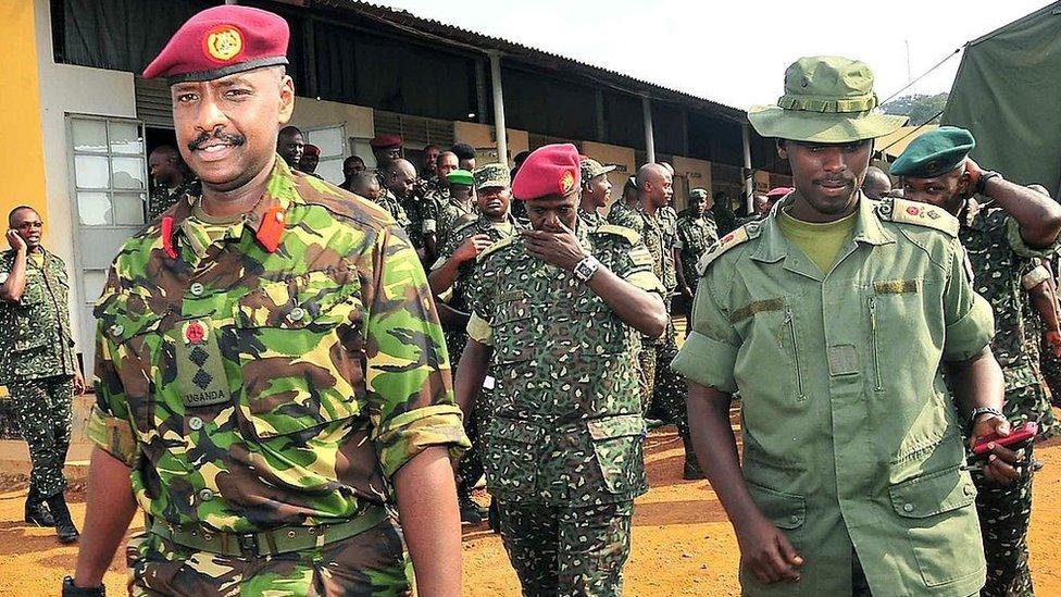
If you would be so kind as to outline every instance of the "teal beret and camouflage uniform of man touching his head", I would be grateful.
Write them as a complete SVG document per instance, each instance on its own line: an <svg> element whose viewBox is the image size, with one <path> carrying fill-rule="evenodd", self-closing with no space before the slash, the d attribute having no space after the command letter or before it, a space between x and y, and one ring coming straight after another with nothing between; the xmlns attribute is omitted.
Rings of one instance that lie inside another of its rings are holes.
<svg viewBox="0 0 1061 597"><path fill-rule="evenodd" d="M896 160L893 173L916 177L946 174L962 167L975 145L968 130L943 126L911 142ZM1025 282L1034 275L1036 259L1052 257L1061 239L1047 249L1033 249L1021 238L1016 220L982 200L968 201L959 220L958 235L972 264L973 287L995 312L991 350L1006 382L1003 411L1013 424L1037 422L1039 439L1050 437L1057 434L1058 422L1039 374L1037 318L1028 318L1034 307L1027 300ZM1031 446L1026 448L1025 458L1033 458L1032 450ZM987 557L987 584L982 595L1033 594L1027 562L1032 475L1032 467L1022 467L1020 480L1008 486L995 484L981 473L973 476Z"/></svg>

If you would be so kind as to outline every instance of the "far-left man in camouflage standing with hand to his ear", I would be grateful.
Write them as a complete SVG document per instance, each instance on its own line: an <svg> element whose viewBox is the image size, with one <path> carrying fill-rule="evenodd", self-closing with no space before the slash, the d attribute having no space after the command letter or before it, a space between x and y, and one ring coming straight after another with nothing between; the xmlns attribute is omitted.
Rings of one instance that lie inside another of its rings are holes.
<svg viewBox="0 0 1061 597"><path fill-rule="evenodd" d="M40 245L43 222L28 207L8 215L10 250L0 253L0 384L8 386L33 470L25 520L77 539L64 492L71 400L85 391L74 357L63 260ZM48 506L45 506L45 502Z"/></svg>

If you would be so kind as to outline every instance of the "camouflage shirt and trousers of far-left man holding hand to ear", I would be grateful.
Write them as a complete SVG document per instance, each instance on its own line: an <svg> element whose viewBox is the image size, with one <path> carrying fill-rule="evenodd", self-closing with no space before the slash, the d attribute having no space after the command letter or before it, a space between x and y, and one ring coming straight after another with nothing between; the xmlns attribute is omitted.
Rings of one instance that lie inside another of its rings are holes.
<svg viewBox="0 0 1061 597"><path fill-rule="evenodd" d="M15 251L0 253L0 283ZM8 386L15 419L29 446L29 495L47 498L66 489L63 464L70 448L74 396L74 340L70 282L63 260L46 251L26 259L26 288L17 303L0 301L0 384Z"/></svg>

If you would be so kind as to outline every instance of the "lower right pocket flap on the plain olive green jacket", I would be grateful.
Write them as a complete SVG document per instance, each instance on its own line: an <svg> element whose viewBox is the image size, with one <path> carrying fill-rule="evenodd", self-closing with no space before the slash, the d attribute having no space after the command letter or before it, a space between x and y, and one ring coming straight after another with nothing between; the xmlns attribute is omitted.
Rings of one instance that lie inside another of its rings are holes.
<svg viewBox="0 0 1061 597"><path fill-rule="evenodd" d="M976 487L958 467L927 473L893 485L888 493L896 513L924 519L957 510L976 500Z"/></svg>

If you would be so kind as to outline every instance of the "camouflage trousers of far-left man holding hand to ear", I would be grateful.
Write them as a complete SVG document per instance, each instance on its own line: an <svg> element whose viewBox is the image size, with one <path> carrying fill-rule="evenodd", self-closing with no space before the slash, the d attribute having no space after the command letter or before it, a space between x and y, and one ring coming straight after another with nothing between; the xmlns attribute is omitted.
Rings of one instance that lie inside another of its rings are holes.
<svg viewBox="0 0 1061 597"><path fill-rule="evenodd" d="M57 375L8 384L22 437L29 446L29 486L41 497L66 490L63 465L70 449L74 380Z"/></svg>

